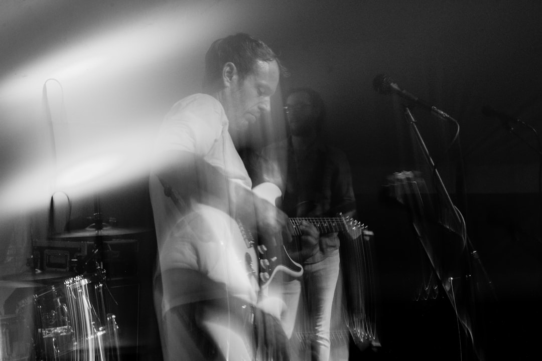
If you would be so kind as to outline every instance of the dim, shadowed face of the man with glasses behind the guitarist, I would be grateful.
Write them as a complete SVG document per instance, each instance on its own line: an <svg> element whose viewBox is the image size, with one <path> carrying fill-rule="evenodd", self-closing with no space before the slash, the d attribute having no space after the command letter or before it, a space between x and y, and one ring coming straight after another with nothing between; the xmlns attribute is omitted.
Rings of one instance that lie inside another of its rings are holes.
<svg viewBox="0 0 542 361"><path fill-rule="evenodd" d="M286 118L293 135L305 136L314 132L318 114L307 93L300 91L290 94L286 100L286 109Z"/></svg>

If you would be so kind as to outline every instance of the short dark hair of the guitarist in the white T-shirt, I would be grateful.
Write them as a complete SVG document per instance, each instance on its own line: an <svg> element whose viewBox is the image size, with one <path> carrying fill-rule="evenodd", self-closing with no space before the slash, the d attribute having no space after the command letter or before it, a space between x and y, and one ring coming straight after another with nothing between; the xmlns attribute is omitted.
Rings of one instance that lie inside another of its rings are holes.
<svg viewBox="0 0 542 361"><path fill-rule="evenodd" d="M282 75L286 73L286 69L281 65L273 50L261 40L243 32L216 40L205 54L203 89L207 90L216 86L217 81L222 78L225 63L234 63L240 79L243 80L254 71L256 61L276 61L280 73Z"/></svg>

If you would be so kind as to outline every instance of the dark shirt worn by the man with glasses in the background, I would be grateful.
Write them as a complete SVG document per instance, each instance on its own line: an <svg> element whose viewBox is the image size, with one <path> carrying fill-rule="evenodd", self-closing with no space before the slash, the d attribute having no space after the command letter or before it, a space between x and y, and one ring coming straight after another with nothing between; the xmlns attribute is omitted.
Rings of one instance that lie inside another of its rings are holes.
<svg viewBox="0 0 542 361"><path fill-rule="evenodd" d="M262 149L254 184L272 182L282 192L280 208L289 217L353 215L356 200L346 155L316 141L294 152L291 138ZM303 262L318 262L338 252L337 233L320 234L319 250Z"/></svg>

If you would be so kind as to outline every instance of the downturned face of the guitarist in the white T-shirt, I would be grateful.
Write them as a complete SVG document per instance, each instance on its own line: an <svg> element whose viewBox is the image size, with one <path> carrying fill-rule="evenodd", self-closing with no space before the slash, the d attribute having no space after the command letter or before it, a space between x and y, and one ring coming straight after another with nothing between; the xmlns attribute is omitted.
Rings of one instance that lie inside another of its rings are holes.
<svg viewBox="0 0 542 361"><path fill-rule="evenodd" d="M269 111L271 96L279 84L279 75L276 61L256 61L253 72L243 80L240 80L238 75L231 77L224 90L222 105L230 122L229 132L233 137L245 134L249 124Z"/></svg>

